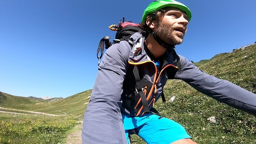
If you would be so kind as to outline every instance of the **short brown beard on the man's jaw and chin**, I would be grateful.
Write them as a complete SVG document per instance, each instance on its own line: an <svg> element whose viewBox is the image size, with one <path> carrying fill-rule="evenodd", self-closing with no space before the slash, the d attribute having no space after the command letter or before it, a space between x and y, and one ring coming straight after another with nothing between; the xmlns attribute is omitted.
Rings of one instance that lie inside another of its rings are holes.
<svg viewBox="0 0 256 144"><path fill-rule="evenodd" d="M175 33L174 27L171 27L167 23L159 23L154 30L155 35L157 35L161 40L170 45L179 45L183 42L183 33Z"/></svg>

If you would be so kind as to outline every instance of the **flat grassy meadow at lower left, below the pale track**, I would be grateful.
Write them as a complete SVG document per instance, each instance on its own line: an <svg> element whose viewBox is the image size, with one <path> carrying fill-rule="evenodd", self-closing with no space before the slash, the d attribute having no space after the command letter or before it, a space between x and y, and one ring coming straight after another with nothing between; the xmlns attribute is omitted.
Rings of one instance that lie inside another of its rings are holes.
<svg viewBox="0 0 256 144"><path fill-rule="evenodd" d="M64 143L75 124L72 117L0 113L0 143Z"/></svg>

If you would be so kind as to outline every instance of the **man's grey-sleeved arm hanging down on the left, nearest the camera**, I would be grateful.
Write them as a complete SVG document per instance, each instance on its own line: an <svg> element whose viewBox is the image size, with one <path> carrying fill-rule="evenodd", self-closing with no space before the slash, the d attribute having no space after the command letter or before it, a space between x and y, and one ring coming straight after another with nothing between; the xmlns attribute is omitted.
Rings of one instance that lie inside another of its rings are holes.
<svg viewBox="0 0 256 144"><path fill-rule="evenodd" d="M127 42L105 52L83 119L83 143L127 143L120 107L129 54Z"/></svg>

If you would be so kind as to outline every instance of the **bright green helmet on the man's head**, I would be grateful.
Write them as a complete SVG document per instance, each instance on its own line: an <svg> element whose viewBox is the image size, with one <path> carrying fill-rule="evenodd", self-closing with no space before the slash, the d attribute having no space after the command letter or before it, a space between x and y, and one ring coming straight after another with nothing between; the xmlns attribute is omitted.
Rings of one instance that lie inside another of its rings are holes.
<svg viewBox="0 0 256 144"><path fill-rule="evenodd" d="M182 3L174 0L157 0L149 4L148 7L144 10L141 22L142 23L145 22L146 16L148 16L148 14L158 11L161 8L165 8L165 7L179 8L179 10L186 12L186 14L188 15L189 21L191 20L191 17L192 17L191 10L189 10L189 8L186 7L186 5L183 5Z"/></svg>

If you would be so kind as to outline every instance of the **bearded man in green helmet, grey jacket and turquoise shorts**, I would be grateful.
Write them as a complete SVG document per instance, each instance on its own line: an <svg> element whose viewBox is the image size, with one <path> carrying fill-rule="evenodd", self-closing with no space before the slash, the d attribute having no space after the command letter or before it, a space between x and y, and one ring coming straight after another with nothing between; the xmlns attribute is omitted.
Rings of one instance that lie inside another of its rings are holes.
<svg viewBox="0 0 256 144"><path fill-rule="evenodd" d="M191 17L180 2L154 1L140 24L147 35L132 35L132 49L123 40L105 52L83 120L83 143L129 143L133 129L147 143L195 143L180 124L149 112L167 79L181 79L205 95L256 114L254 93L209 76L176 54L174 45L183 42Z"/></svg>

